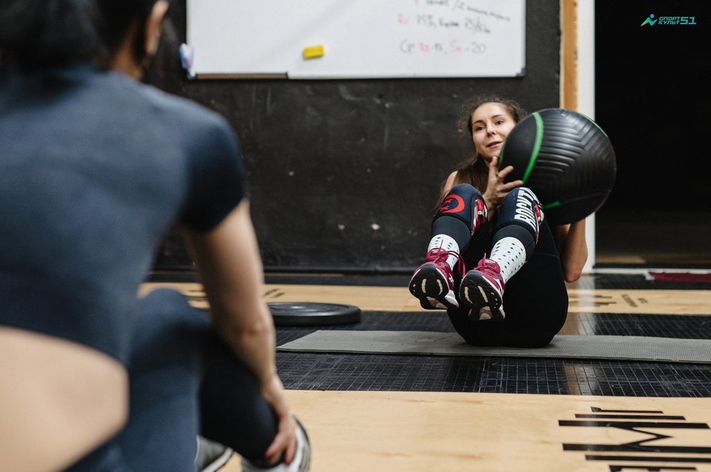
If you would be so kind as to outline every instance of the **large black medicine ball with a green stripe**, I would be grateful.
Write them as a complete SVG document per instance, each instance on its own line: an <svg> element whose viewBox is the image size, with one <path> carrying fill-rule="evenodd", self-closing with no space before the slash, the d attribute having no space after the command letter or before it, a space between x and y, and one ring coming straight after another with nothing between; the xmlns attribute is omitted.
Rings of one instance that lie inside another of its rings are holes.
<svg viewBox="0 0 711 472"><path fill-rule="evenodd" d="M584 114L549 108L523 118L504 141L498 167L522 180L554 225L582 220L602 207L617 172L609 138Z"/></svg>

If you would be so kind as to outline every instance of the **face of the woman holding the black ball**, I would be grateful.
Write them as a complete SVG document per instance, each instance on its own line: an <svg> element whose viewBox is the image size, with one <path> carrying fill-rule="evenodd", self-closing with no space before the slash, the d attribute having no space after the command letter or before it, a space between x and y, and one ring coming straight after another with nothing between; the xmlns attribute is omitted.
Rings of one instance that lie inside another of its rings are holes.
<svg viewBox="0 0 711 472"><path fill-rule="evenodd" d="M471 114L471 136L477 154L486 163L491 162L493 156L498 157L503 141L514 126L513 117L501 103L480 105Z"/></svg>

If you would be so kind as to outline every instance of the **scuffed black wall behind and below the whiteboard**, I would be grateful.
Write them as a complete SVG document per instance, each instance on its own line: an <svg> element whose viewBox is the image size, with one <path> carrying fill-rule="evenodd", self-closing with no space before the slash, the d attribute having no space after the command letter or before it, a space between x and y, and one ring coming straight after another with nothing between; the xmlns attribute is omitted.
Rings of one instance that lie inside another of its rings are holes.
<svg viewBox="0 0 711 472"><path fill-rule="evenodd" d="M177 56L183 0L150 79L234 127L267 271L407 272L424 257L440 184L471 153L456 133L461 104L484 92L530 111L560 102L559 3L526 3L524 77L191 81ZM171 230L156 269L190 268Z"/></svg>

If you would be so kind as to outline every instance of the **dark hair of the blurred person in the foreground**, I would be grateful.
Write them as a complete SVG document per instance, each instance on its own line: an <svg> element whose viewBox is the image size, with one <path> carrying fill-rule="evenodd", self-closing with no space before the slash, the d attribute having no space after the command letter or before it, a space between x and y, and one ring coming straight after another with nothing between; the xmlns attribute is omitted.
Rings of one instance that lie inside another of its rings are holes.
<svg viewBox="0 0 711 472"><path fill-rule="evenodd" d="M144 25L158 0L0 0L0 58L21 70L92 62L107 68L132 26L144 59Z"/></svg>

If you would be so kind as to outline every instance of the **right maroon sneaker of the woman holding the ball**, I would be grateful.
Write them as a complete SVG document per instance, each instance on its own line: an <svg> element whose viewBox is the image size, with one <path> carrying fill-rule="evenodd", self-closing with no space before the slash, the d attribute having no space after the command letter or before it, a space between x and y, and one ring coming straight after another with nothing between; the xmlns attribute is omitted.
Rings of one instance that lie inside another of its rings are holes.
<svg viewBox="0 0 711 472"><path fill-rule="evenodd" d="M459 286L459 299L471 308L473 320L503 321L503 277L501 267L484 257L476 269L466 273Z"/></svg>

